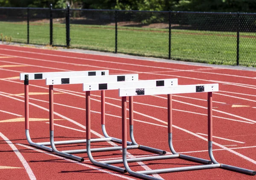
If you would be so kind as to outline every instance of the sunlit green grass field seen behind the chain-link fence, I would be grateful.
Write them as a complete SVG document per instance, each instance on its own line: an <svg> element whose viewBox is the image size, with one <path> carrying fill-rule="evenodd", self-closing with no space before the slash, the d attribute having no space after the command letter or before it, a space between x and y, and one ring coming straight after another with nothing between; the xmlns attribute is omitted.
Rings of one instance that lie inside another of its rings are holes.
<svg viewBox="0 0 256 180"><path fill-rule="evenodd" d="M29 23L29 43L49 44L49 24ZM26 23L0 22L0 33L13 42L27 42ZM70 25L70 45L98 51L115 51L115 27ZM1 40L1 39L0 39ZM256 34L240 33L240 65L256 67ZM118 27L118 53L168 58L169 30ZM194 62L236 65L236 32L172 29L171 57ZM65 24L53 24L53 45L66 45Z"/></svg>

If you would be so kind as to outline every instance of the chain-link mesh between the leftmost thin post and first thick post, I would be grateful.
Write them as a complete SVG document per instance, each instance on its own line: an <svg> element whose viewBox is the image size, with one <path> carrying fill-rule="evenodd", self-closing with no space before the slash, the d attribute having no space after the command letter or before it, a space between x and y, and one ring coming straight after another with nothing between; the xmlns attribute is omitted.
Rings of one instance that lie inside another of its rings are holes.
<svg viewBox="0 0 256 180"><path fill-rule="evenodd" d="M29 43L49 45L49 8L29 8Z"/></svg>

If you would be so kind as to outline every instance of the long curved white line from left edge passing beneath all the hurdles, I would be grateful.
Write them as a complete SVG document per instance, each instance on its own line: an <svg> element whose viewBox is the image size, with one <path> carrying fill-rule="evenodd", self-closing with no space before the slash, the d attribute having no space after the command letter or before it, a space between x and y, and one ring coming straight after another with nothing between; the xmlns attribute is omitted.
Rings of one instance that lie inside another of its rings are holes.
<svg viewBox="0 0 256 180"><path fill-rule="evenodd" d="M12 96L8 96L8 95L5 95L5 94L1 94L1 93L0 93L0 96L5 96L5 97L8 97L8 98L15 99L15 100L17 100L17 101L24 102L24 101L21 100L21 99L14 98L14 97L12 97ZM38 108L40 108L40 109L42 109L42 110L46 110L47 112L49 112L49 110L48 110L47 108L41 107L41 106L39 106L39 105L37 105L37 104L34 104L34 103L31 103L31 102L29 102L29 104L32 105L32 106L38 107ZM86 129L86 127L85 127L84 125L80 124L79 122L74 121L73 119L67 118L66 116L61 115L61 114L56 113L56 112L53 112L53 114L54 114L54 115L58 115L59 117L64 118L64 119L66 119L67 121L70 121L70 122L72 122L73 124L76 124L76 125L78 125L79 127L83 128L83 129ZM91 129L91 133L93 133L94 135L96 135L96 136L98 136L98 137L100 137L100 138L105 138L105 136L102 136L102 135L99 134L98 132L93 131L93 129ZM118 146L116 143L113 143L112 141L107 141L107 143L110 143L112 146ZM134 156L131 155L131 153L129 153L129 152L127 152L127 156L128 156L128 157L134 157ZM143 169L145 169L145 170L151 170L151 168L149 168L148 166L146 166L143 162L137 162L137 163L138 163L140 166L142 166ZM159 174L154 174L153 176L154 176L154 177L158 177L158 178L162 178Z"/></svg>

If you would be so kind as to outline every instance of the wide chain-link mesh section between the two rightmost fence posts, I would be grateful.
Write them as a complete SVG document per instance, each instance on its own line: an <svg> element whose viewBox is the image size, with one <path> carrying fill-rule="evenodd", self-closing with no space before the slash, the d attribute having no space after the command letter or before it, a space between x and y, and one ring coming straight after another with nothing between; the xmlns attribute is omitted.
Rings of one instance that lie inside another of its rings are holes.
<svg viewBox="0 0 256 180"><path fill-rule="evenodd" d="M174 59L236 65L236 14L172 13Z"/></svg>

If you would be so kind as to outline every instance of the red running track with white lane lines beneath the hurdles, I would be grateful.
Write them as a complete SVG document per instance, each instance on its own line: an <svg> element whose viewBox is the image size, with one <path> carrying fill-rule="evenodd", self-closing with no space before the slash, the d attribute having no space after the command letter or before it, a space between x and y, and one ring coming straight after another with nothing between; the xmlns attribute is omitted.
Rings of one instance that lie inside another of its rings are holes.
<svg viewBox="0 0 256 180"><path fill-rule="evenodd" d="M0 45L0 179L136 179L94 166L84 157L76 163L32 148L24 131L23 82L21 72L66 70L110 70L110 74L139 73L140 79L178 78L179 84L219 83L213 93L213 153L220 163L256 170L256 71L154 62L113 56L72 53L39 48ZM35 142L49 141L47 120L48 87L43 81L29 83L30 135ZM55 86L55 141L85 138L85 95L82 85ZM68 90L60 93L57 89ZM92 138L99 137L100 92L91 92ZM134 98L134 136L137 143L169 152L167 96ZM177 152L209 159L207 154L207 93L173 96L173 144ZM106 91L106 128L121 138L121 98L118 91ZM78 126L68 120L81 124ZM99 133L99 134L97 134ZM9 140L9 141L8 141ZM111 146L93 143L92 147ZM15 150L17 148L17 150ZM58 149L84 149L85 144L59 145ZM140 150L134 156L150 155ZM93 153L96 159L121 158L121 151ZM133 170L190 166L197 163L173 159L131 163ZM122 166L122 165L119 165ZM223 169L175 172L155 175L163 179L255 179Z"/></svg>

